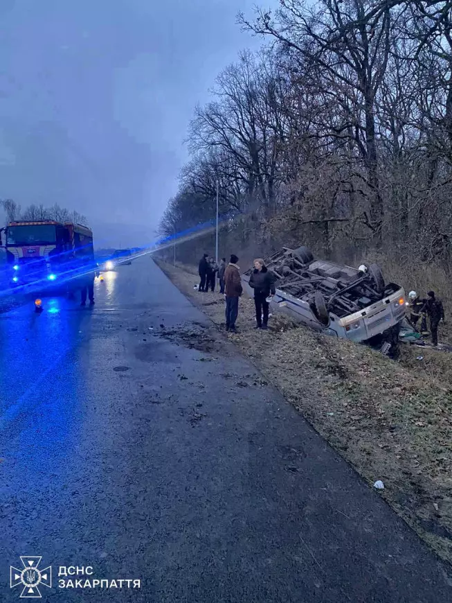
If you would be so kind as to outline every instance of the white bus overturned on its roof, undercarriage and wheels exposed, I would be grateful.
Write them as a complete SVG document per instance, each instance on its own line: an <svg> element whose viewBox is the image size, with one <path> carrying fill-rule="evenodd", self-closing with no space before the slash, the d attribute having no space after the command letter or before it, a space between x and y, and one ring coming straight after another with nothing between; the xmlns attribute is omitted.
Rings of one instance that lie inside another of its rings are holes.
<svg viewBox="0 0 452 603"><path fill-rule="evenodd" d="M355 342L370 340L404 319L404 289L385 283L376 264L352 268L314 259L307 247L283 247L267 268L275 276L273 309L280 308L317 331ZM242 275L244 290L252 270Z"/></svg>

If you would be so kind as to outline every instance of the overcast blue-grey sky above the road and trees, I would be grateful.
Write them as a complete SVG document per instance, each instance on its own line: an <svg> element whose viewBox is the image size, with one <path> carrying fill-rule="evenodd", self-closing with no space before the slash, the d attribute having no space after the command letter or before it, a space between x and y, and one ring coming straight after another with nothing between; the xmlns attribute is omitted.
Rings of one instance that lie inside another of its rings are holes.
<svg viewBox="0 0 452 603"><path fill-rule="evenodd" d="M98 243L152 238L195 105L262 43L235 24L255 3L1 0L0 198L77 209Z"/></svg>

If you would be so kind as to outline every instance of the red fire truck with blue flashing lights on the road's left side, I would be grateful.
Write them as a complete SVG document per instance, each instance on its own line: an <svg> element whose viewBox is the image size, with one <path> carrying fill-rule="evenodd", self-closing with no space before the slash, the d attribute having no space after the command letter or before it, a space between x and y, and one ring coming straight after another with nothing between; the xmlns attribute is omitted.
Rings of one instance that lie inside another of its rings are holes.
<svg viewBox="0 0 452 603"><path fill-rule="evenodd" d="M69 283L77 262L94 257L91 229L73 222L9 222L0 241L12 286Z"/></svg>

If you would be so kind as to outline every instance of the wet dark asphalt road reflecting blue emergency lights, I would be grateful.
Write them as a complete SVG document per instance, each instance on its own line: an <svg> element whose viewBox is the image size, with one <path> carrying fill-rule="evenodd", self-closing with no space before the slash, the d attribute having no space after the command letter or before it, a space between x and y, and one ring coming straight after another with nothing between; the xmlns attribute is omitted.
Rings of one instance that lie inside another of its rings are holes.
<svg viewBox="0 0 452 603"><path fill-rule="evenodd" d="M0 315L2 602L21 555L53 567L43 601L451 602L450 568L149 257L92 311L44 304ZM141 589L55 588L59 566Z"/></svg>

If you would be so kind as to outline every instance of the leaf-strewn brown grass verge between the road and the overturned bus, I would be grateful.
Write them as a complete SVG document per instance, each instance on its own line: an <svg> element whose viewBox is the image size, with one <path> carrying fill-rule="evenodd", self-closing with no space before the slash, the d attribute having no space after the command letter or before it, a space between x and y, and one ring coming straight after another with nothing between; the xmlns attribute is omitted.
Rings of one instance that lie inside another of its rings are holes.
<svg viewBox="0 0 452 603"><path fill-rule="evenodd" d="M192 269L159 265L224 331L219 293L194 290ZM452 356L406 345L394 362L278 314L269 331L254 326L253 300L242 298L239 332L224 336L369 484L382 480L381 496L452 562ZM198 337L202 346L208 333L199 331ZM291 467L298 470L296 462Z"/></svg>

